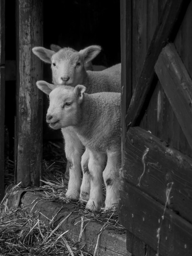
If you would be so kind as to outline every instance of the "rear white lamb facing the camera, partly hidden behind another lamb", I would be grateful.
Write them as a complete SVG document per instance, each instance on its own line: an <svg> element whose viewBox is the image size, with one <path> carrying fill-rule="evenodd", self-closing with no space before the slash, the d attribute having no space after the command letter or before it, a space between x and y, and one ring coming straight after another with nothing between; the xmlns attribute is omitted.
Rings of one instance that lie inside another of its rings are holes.
<svg viewBox="0 0 192 256"><path fill-rule="evenodd" d="M75 87L83 84L87 88L86 92L121 92L121 64L114 65L103 71L86 71L85 64L92 61L100 52L101 47L97 45L89 46L79 52L71 48L62 48L58 52L44 47L34 47L33 53L42 61L51 63L53 83L56 85L70 85ZM69 183L66 197L71 200L79 198L89 199L88 191L80 193L81 169L83 170L83 183L89 180L87 168L89 154L84 152L84 146L78 139L73 129L62 129L65 140L65 155L69 163ZM83 155L83 156L82 156ZM82 157L82 161L81 161ZM83 186L83 184L82 184Z"/></svg>

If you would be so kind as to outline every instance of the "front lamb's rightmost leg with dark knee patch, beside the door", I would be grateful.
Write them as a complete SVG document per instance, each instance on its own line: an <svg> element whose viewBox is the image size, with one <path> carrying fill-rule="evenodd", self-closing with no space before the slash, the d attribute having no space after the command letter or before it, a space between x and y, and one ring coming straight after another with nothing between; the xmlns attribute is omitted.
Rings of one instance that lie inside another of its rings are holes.
<svg viewBox="0 0 192 256"><path fill-rule="evenodd" d="M105 207L117 206L119 201L121 154L107 152L107 165L103 171L103 180L106 187Z"/></svg>

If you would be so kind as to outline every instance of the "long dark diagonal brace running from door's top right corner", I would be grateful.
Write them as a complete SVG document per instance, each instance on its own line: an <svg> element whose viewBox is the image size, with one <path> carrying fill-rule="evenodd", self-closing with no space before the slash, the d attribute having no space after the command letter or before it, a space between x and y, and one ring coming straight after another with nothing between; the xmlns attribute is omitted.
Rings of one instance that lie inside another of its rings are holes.
<svg viewBox="0 0 192 256"><path fill-rule="evenodd" d="M156 85L156 83L153 83L155 74L154 65L167 40L175 35L173 31L175 32L175 29L178 29L178 21L182 21L183 13L185 13L189 2L190 0L167 0L165 4L163 14L159 19L154 36L147 50L143 69L139 76L138 83L127 111L125 120L127 129L130 126L136 125L136 122L141 115L141 110L143 110L147 96L153 85Z"/></svg>

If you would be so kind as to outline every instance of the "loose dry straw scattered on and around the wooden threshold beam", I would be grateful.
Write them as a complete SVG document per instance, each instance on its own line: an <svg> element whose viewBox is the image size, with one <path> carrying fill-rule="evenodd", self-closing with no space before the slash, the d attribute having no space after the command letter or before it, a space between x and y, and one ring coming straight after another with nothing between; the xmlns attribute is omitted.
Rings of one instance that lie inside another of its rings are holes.
<svg viewBox="0 0 192 256"><path fill-rule="evenodd" d="M48 152L54 153L50 157ZM47 155L46 155L47 153ZM44 148L42 186L40 188L27 188L26 190L36 191L38 196L46 200L71 203L65 198L67 189L67 180L63 170L65 170L66 159L63 157L62 143L50 142ZM51 158L51 159L50 159ZM10 162L9 172L6 173L7 191L0 204L0 252L2 255L14 256L43 256L43 255L91 255L80 247L79 243L73 243L67 240L67 230L60 231L59 227L54 227L54 221L49 220L45 224L36 213L27 211L27 209L16 205L9 209L7 200L10 195L16 194L22 190L19 186L11 185L13 182L13 162ZM98 234L98 240L101 232L107 229L115 229L116 232L125 233L125 229L118 223L118 211L116 207L110 210L101 209L99 213L90 213L85 211L85 207L76 202L76 209L81 216L80 238L83 230L90 221L100 222L103 227ZM78 223L78 222L77 222ZM76 225L75 223L74 225ZM83 228L84 225L84 228ZM95 253L97 250L95 247ZM0 254L1 256L1 254Z"/></svg>

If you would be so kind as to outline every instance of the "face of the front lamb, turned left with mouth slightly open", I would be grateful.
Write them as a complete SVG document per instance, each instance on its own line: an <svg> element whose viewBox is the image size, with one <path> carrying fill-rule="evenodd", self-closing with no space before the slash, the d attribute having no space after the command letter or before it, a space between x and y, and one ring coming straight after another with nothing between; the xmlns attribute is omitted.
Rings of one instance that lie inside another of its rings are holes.
<svg viewBox="0 0 192 256"><path fill-rule="evenodd" d="M79 118L78 98L73 88L55 88L49 94L46 121L52 129L75 126Z"/></svg>

